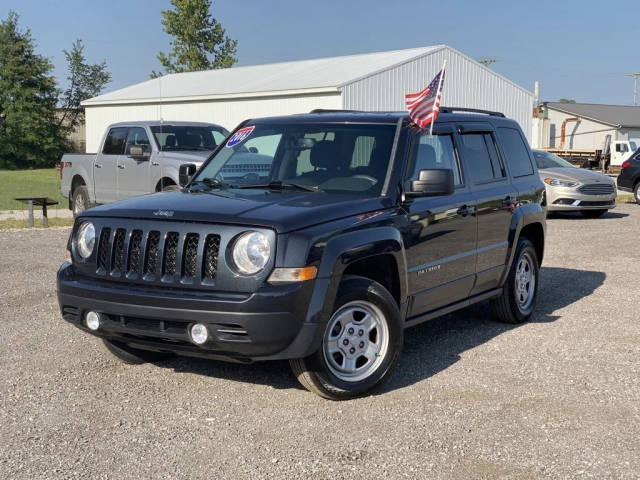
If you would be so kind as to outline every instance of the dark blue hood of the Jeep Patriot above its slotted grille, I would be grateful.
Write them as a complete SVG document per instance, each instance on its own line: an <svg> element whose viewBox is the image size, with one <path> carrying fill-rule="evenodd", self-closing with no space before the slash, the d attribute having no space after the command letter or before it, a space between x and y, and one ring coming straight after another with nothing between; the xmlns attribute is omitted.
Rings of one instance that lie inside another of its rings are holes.
<svg viewBox="0 0 640 480"><path fill-rule="evenodd" d="M153 193L95 207L83 216L251 225L285 233L389 205L384 197L228 189Z"/></svg>

